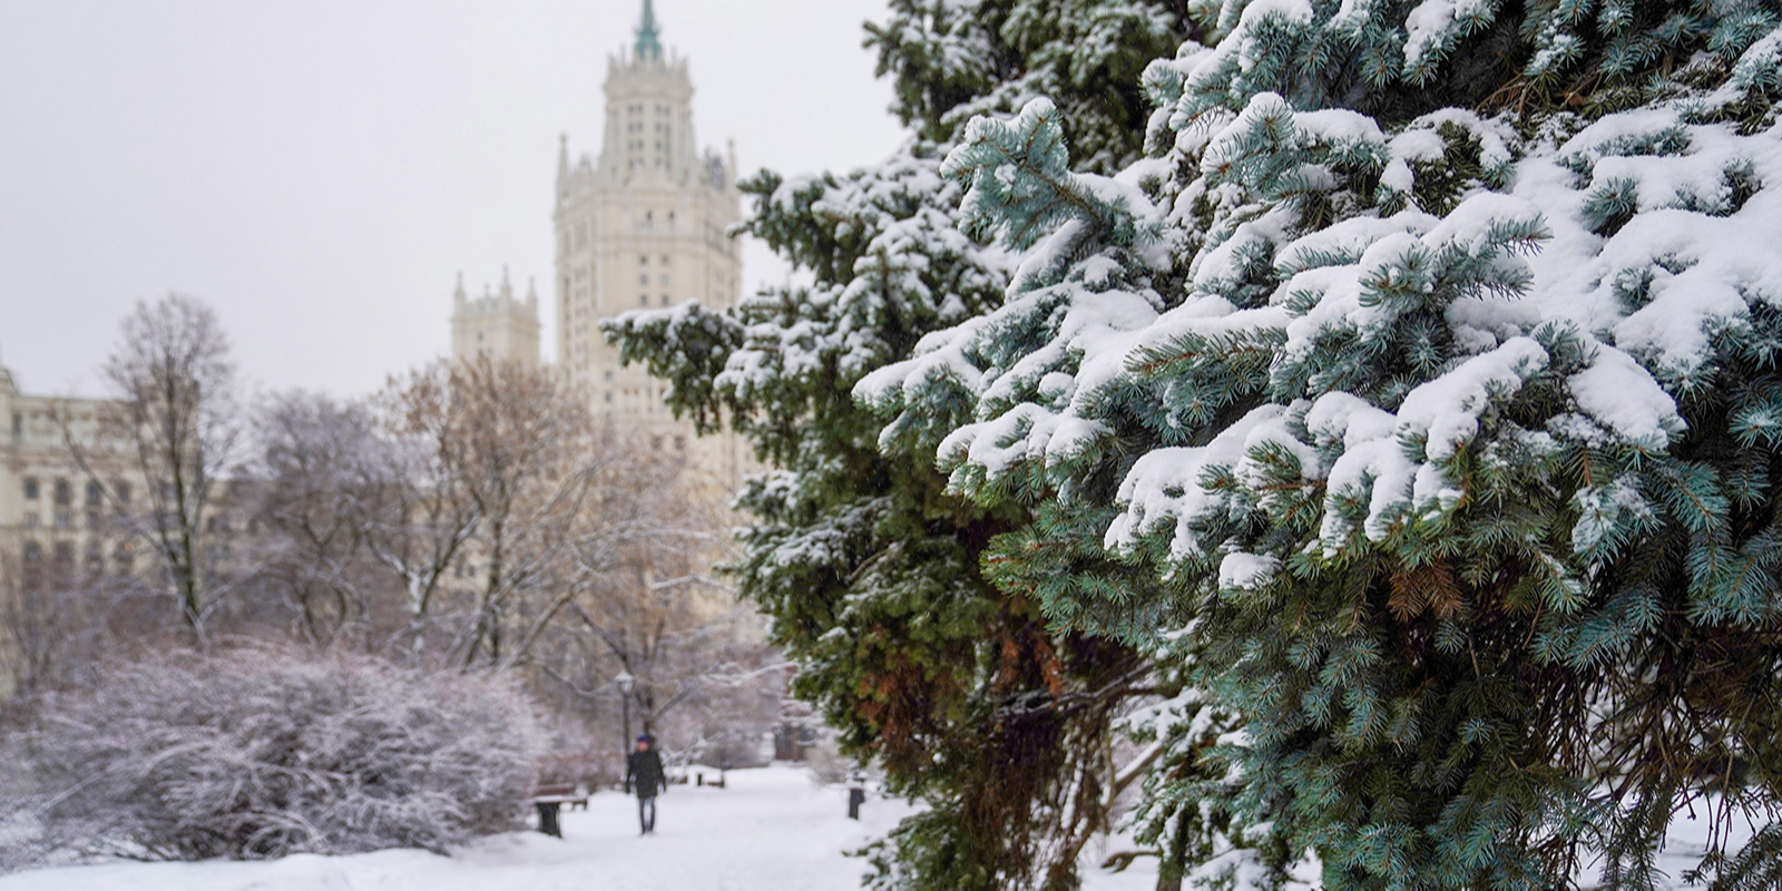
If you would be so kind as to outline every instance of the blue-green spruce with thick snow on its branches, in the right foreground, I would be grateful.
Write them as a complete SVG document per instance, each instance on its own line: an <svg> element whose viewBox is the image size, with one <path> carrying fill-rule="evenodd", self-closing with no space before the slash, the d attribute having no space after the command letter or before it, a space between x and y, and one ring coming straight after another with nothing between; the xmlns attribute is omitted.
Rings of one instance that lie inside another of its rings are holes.
<svg viewBox="0 0 1782 891"><path fill-rule="evenodd" d="M1034 506L989 565L1050 618L1198 674L1148 784L1198 877L1650 886L1695 802L1771 887L1777 4L1194 9L1119 175L1046 100L969 125L943 173L1021 262L862 380L886 440Z"/></svg>

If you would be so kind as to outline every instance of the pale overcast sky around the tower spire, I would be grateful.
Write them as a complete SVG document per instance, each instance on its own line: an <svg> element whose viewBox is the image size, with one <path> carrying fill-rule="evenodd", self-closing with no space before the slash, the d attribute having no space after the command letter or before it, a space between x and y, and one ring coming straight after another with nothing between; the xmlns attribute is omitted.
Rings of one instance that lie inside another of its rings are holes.
<svg viewBox="0 0 1782 891"><path fill-rule="evenodd" d="M214 305L244 378L360 394L444 355L462 269L538 276L558 134L599 150L642 0L0 0L0 364L96 392L119 319ZM658 0L699 139L745 171L902 141L884 0ZM759 246L748 283L784 274Z"/></svg>

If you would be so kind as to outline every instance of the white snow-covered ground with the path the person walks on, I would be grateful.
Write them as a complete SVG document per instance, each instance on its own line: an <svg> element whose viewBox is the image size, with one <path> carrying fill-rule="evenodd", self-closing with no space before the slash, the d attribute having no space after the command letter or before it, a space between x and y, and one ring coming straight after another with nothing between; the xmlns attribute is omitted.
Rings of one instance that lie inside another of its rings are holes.
<svg viewBox="0 0 1782 891"><path fill-rule="evenodd" d="M0 891L838 891L868 870L845 852L909 813L870 798L846 818L846 789L818 786L793 766L738 770L729 788L675 786L659 800L656 834L638 838L636 800L601 793L563 814L563 839L494 836L438 857L387 850L269 862L105 862L0 877ZM1096 848L1096 845L1091 845ZM1085 859L1098 859L1091 850ZM1149 891L1155 866L1121 875L1085 868L1087 891Z"/></svg>

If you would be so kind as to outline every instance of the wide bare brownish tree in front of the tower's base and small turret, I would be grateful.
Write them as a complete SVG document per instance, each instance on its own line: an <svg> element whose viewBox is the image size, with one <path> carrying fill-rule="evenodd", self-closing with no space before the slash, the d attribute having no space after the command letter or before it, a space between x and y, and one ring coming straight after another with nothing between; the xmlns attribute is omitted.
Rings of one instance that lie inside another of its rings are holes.
<svg viewBox="0 0 1782 891"><path fill-rule="evenodd" d="M636 547L688 538L679 458L597 428L549 371L438 362L374 406L387 494L364 499L364 542L408 592L415 652L526 665Z"/></svg>

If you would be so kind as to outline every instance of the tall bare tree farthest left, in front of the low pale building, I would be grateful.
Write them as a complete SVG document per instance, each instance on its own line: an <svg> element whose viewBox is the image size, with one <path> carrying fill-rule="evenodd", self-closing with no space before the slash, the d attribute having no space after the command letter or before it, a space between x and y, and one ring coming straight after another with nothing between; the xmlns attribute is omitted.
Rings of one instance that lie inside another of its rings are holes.
<svg viewBox="0 0 1782 891"><path fill-rule="evenodd" d="M244 431L235 365L216 312L180 294L139 301L105 362L105 381L114 410L91 426L59 413L62 438L91 490L148 544L157 568L151 583L173 595L201 645L205 617L226 590L203 547L203 520L237 463ZM146 510L132 511L114 485L119 476L143 483Z"/></svg>

